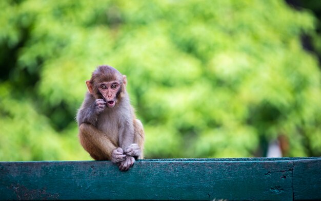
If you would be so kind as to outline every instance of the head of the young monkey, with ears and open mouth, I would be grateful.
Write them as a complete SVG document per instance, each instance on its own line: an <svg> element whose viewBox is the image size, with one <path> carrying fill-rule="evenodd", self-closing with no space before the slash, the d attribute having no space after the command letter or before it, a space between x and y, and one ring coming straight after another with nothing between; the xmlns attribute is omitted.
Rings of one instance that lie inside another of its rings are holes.
<svg viewBox="0 0 321 201"><path fill-rule="evenodd" d="M96 99L104 99L112 108L125 94L126 76L111 66L98 66L91 79L86 81L89 93Z"/></svg>

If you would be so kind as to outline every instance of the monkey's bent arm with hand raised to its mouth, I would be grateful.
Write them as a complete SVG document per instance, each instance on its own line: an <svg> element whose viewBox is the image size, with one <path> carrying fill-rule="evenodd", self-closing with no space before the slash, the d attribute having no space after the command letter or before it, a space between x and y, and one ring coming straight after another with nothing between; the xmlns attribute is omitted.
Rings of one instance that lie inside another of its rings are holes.
<svg viewBox="0 0 321 201"><path fill-rule="evenodd" d="M97 124L98 114L103 112L106 107L106 102L103 99L95 99L89 93L77 113L77 123L80 126L82 123Z"/></svg>

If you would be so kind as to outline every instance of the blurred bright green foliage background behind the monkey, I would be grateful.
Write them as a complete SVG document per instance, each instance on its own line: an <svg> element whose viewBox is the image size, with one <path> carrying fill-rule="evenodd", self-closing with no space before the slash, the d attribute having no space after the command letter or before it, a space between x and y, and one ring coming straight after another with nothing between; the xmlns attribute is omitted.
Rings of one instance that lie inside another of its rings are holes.
<svg viewBox="0 0 321 201"><path fill-rule="evenodd" d="M319 1L0 1L0 160L90 160L75 114L127 75L146 158L321 155Z"/></svg>

